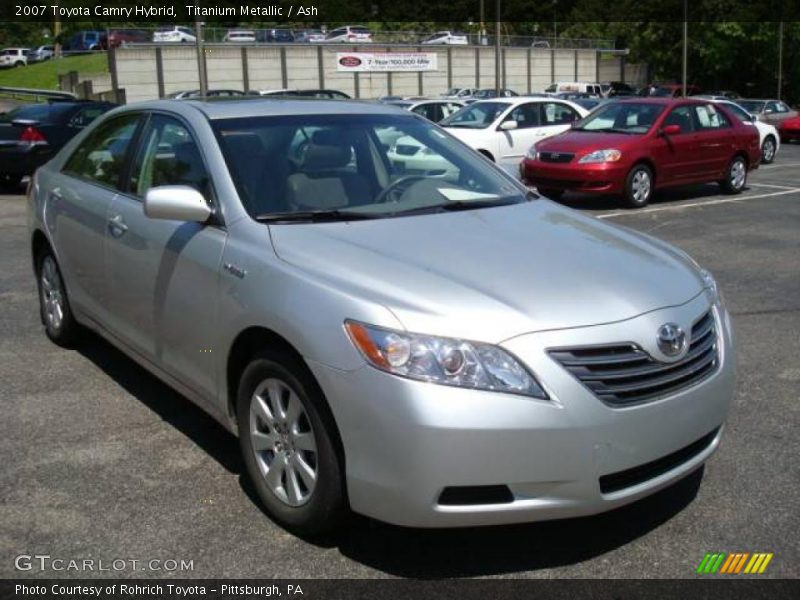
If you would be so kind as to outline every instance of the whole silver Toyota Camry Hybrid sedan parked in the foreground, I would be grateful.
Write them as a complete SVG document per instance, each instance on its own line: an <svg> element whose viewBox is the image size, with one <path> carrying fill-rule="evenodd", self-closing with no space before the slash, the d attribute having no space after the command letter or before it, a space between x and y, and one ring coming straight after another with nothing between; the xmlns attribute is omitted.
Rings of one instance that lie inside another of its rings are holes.
<svg viewBox="0 0 800 600"><path fill-rule="evenodd" d="M130 105L39 169L28 216L50 339L91 329L237 432L299 533L593 514L720 441L711 275L411 113Z"/></svg>

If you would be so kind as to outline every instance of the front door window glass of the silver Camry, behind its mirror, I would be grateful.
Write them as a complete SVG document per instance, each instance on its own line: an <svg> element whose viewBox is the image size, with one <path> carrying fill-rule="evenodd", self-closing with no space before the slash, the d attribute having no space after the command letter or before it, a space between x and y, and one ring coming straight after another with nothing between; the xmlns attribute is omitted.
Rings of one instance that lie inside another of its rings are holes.
<svg viewBox="0 0 800 600"><path fill-rule="evenodd" d="M200 149L186 126L172 117L153 115L150 119L131 173L130 190L139 197L162 185L187 185L206 198L211 196L211 179Z"/></svg>

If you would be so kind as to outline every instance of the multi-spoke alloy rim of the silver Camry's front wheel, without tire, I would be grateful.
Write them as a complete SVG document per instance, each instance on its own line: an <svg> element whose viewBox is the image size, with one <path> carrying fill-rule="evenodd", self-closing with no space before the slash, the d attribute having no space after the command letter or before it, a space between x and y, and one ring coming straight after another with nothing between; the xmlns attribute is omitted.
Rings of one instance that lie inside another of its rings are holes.
<svg viewBox="0 0 800 600"><path fill-rule="evenodd" d="M281 379L266 379L253 392L249 435L272 493L288 506L308 502L318 477L316 439L300 398Z"/></svg>

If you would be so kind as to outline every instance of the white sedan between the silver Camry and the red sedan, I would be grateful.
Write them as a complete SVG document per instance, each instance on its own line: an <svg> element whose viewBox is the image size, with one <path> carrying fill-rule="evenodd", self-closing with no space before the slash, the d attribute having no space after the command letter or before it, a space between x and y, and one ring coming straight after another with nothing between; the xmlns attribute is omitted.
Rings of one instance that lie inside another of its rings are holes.
<svg viewBox="0 0 800 600"><path fill-rule="evenodd" d="M589 111L569 100L544 97L479 100L439 125L506 171L519 177L519 163L537 142L567 131Z"/></svg>

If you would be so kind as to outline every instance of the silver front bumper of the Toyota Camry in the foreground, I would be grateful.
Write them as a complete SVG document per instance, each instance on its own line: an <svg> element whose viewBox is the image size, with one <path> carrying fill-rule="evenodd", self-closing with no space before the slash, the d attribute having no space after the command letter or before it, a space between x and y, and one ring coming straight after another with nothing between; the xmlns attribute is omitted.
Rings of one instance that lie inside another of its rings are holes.
<svg viewBox="0 0 800 600"><path fill-rule="evenodd" d="M727 313L716 311L720 364L713 375L627 408L601 402L546 349L649 340L661 324L687 323L707 309L701 294L621 323L505 342L550 400L427 384L367 366L338 371L311 363L342 435L351 507L405 526L493 525L594 514L670 485L719 445L734 389ZM662 459L704 436L697 452L666 471L601 492L601 477ZM466 505L440 501L445 488L462 486L507 486L512 497Z"/></svg>

